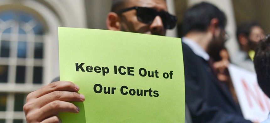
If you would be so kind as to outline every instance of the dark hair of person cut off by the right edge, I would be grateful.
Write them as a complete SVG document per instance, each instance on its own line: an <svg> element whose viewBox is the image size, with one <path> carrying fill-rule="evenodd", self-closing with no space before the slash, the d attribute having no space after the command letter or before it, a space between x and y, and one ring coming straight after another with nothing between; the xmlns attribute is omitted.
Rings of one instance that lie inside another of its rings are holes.
<svg viewBox="0 0 270 123"><path fill-rule="evenodd" d="M254 66L259 86L270 97L270 34L260 41L254 57Z"/></svg>

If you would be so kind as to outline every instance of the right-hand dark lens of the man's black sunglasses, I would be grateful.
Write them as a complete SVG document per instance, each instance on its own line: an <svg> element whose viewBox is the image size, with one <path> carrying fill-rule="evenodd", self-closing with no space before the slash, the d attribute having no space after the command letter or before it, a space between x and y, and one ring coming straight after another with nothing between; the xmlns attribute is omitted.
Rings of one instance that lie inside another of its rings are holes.
<svg viewBox="0 0 270 123"><path fill-rule="evenodd" d="M161 19L166 29L173 29L176 26L177 17L170 15L168 12L161 13Z"/></svg>

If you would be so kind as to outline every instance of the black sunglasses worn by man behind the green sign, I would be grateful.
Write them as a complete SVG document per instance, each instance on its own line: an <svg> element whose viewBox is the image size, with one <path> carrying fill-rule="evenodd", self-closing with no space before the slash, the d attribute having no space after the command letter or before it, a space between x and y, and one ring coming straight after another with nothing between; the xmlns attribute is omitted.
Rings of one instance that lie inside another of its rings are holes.
<svg viewBox="0 0 270 123"><path fill-rule="evenodd" d="M117 14L121 14L123 12L127 12L129 10L136 9L137 11L137 19L140 22L146 23L146 24L151 24L156 16L160 16L163 26L166 29L172 29L176 26L177 22L177 17L169 14L168 12L161 11L157 12L153 8L148 8L148 7L130 7L126 9L119 10L116 12Z"/></svg>

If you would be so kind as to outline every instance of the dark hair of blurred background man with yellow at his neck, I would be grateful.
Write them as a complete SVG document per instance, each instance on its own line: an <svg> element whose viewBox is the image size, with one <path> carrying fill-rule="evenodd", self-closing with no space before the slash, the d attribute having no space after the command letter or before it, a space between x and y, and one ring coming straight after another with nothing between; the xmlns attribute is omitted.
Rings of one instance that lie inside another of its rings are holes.
<svg viewBox="0 0 270 123"><path fill-rule="evenodd" d="M248 37L250 35L251 28L254 26L261 27L258 22L244 22L239 24L237 27L236 36L238 37L240 34L244 34Z"/></svg>

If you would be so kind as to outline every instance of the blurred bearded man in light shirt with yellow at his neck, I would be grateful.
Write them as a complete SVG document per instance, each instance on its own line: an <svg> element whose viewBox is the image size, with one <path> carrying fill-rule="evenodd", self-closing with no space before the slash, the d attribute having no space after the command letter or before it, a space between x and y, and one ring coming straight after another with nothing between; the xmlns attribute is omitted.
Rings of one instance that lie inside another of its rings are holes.
<svg viewBox="0 0 270 123"><path fill-rule="evenodd" d="M236 35L240 51L232 55L231 62L248 71L255 72L252 60L258 42L264 37L262 27L256 22L243 23L237 28Z"/></svg>

